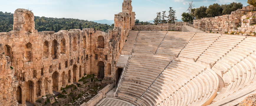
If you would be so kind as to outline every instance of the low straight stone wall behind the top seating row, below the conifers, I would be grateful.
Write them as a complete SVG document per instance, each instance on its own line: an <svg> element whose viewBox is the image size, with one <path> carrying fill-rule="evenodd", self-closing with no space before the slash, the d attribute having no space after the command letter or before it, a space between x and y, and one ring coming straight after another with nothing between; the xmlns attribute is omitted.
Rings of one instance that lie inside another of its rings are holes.
<svg viewBox="0 0 256 106"><path fill-rule="evenodd" d="M175 26L169 26L169 30ZM167 25L134 25L132 30L141 30L141 31L167 31ZM181 25L176 26L176 31L181 31Z"/></svg>

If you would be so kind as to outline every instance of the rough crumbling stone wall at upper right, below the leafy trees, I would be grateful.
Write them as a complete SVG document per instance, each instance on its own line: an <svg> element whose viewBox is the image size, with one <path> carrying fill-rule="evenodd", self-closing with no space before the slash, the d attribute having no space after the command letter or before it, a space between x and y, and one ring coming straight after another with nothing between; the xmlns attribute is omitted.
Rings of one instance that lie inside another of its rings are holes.
<svg viewBox="0 0 256 106"><path fill-rule="evenodd" d="M237 11L232 11L229 15L193 20L193 25L208 31L238 32L237 29L242 25L242 16L248 14L249 10L255 11L256 8L253 6L243 7Z"/></svg>

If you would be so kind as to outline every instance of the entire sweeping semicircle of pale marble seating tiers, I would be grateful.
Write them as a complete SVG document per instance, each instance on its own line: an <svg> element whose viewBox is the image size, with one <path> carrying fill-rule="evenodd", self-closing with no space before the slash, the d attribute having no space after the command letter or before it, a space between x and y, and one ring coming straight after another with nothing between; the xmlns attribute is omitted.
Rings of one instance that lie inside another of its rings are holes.
<svg viewBox="0 0 256 106"><path fill-rule="evenodd" d="M130 31L116 97L139 106L234 105L256 93L256 37Z"/></svg>

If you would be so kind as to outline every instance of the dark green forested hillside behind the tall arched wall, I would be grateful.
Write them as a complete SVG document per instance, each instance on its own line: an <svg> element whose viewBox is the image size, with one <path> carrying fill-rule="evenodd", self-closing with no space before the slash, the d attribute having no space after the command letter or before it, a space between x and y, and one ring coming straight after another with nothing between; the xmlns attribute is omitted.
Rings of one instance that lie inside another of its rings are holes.
<svg viewBox="0 0 256 106"><path fill-rule="evenodd" d="M93 21L67 18L47 18L35 16L35 29L38 31L55 31L69 29L94 28L108 32L114 28L114 24L99 24ZM13 29L13 14L0 11L0 32L9 32Z"/></svg>

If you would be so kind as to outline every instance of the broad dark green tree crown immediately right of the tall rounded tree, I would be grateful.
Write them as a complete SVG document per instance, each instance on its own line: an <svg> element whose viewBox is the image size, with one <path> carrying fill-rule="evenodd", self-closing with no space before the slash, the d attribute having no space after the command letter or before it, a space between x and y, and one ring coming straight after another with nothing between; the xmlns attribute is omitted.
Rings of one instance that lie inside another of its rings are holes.
<svg viewBox="0 0 256 106"><path fill-rule="evenodd" d="M232 11L236 11L237 9L242 9L243 4L233 2L233 3L230 3L230 4L222 4L221 8L223 9L223 11L222 11L223 14L231 14Z"/></svg>

